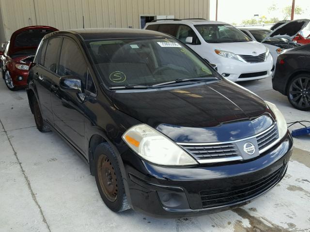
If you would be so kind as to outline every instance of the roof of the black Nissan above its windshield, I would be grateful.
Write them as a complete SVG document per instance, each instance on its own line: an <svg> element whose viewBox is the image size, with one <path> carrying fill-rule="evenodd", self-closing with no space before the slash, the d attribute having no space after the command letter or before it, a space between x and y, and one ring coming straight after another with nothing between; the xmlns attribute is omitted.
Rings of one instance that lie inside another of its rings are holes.
<svg viewBox="0 0 310 232"><path fill-rule="evenodd" d="M121 28L88 28L88 29L70 29L56 31L49 36L53 35L79 35L83 40L96 40L96 39L128 39L128 38L167 38L169 35L153 30L142 29L121 29ZM48 38L47 36L46 38Z"/></svg>

